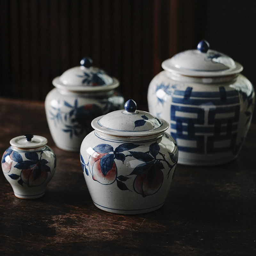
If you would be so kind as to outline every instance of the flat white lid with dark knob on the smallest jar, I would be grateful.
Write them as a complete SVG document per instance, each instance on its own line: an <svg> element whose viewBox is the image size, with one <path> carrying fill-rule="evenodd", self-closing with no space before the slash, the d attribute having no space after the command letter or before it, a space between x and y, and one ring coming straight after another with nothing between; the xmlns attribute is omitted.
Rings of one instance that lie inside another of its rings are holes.
<svg viewBox="0 0 256 256"><path fill-rule="evenodd" d="M25 134L24 136L18 136L10 140L10 144L15 148L20 149L38 149L44 147L47 143L47 139L43 136Z"/></svg>

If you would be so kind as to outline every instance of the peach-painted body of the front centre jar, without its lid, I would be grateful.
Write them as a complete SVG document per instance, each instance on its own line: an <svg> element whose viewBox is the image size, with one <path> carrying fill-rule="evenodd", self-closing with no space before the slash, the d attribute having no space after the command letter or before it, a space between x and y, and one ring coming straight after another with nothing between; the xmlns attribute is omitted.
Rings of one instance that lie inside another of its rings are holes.
<svg viewBox="0 0 256 256"><path fill-rule="evenodd" d="M86 185L98 208L138 214L164 204L178 148L166 133L157 136L136 140L93 131L84 138L80 159Z"/></svg>

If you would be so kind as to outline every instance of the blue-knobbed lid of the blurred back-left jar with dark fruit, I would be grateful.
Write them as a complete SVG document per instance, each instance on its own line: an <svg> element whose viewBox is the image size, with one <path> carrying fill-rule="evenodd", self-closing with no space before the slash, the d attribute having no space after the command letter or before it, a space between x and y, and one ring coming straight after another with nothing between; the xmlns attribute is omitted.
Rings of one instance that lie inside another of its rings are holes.
<svg viewBox="0 0 256 256"><path fill-rule="evenodd" d="M92 67L92 59L84 57L80 67L70 68L52 80L52 84L69 91L106 91L119 86L116 78L109 76L100 68Z"/></svg>

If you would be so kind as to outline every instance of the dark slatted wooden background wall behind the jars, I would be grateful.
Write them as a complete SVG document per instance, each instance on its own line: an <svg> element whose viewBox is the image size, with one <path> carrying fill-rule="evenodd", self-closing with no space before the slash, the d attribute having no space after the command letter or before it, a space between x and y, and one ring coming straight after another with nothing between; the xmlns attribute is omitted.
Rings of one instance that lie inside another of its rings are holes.
<svg viewBox="0 0 256 256"><path fill-rule="evenodd" d="M163 60L201 39L256 84L256 1L1 0L0 97L44 101L52 79L90 56L147 110Z"/></svg>

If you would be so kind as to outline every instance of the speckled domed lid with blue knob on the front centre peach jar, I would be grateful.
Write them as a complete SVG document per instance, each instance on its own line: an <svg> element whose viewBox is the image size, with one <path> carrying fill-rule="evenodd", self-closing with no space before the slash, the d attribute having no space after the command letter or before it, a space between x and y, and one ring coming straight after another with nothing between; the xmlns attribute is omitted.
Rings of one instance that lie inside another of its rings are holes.
<svg viewBox="0 0 256 256"><path fill-rule="evenodd" d="M169 124L156 116L137 110L134 100L124 104L124 110L116 110L92 120L92 127L105 134L121 137L144 137L162 133Z"/></svg>

